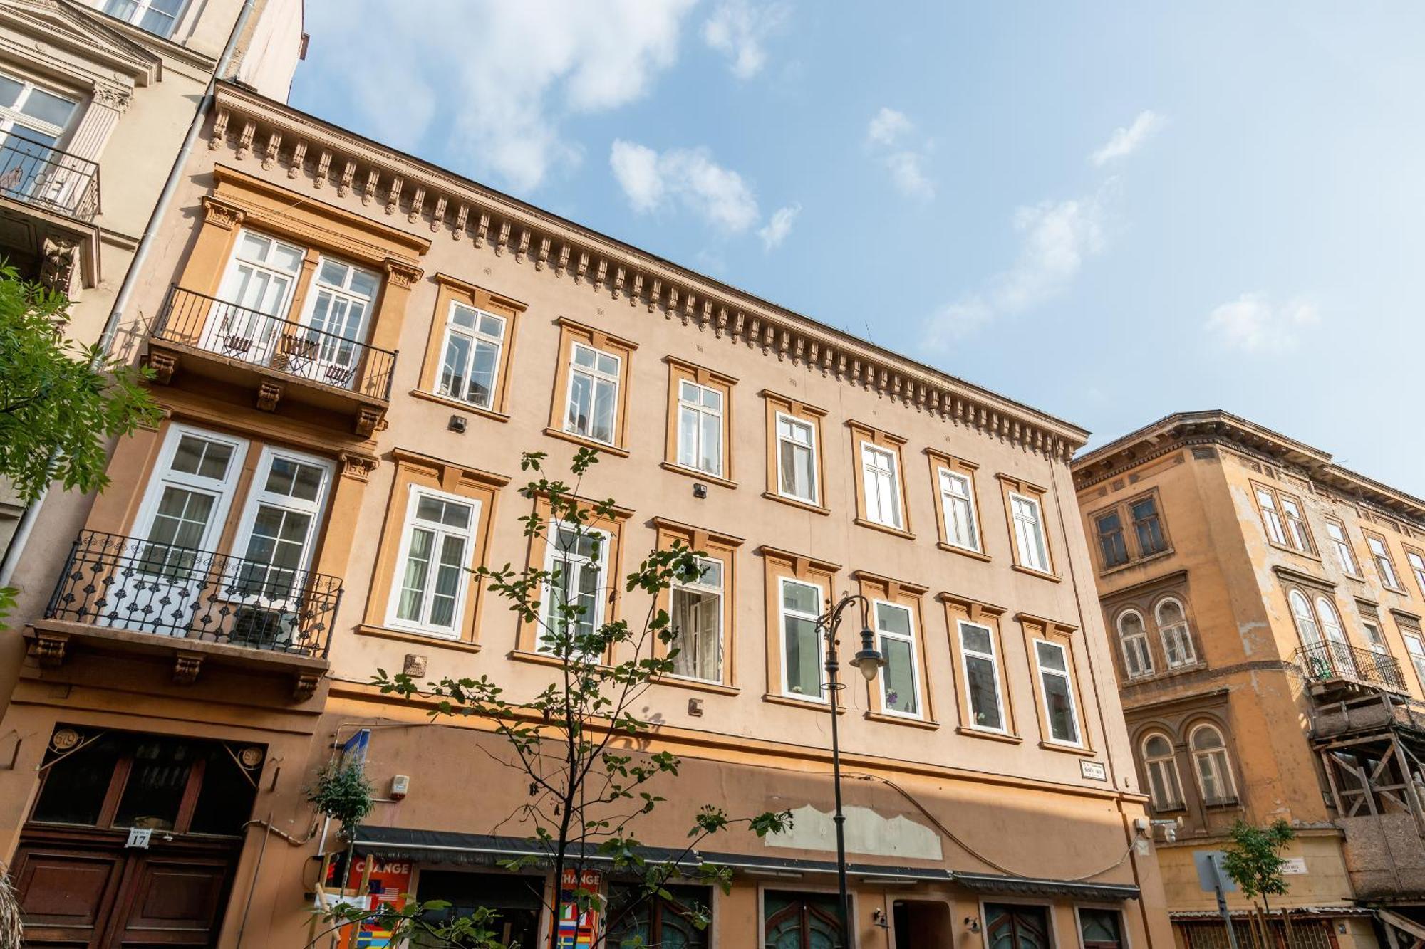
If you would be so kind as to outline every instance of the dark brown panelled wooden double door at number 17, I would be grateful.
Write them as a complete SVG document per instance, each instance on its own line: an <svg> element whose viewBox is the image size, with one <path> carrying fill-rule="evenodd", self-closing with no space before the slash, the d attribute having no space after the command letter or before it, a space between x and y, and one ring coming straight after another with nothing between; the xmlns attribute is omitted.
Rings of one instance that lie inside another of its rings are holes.
<svg viewBox="0 0 1425 949"><path fill-rule="evenodd" d="M164 842L154 834L150 848L141 849L124 846L125 841L127 834L66 831L21 836L13 872L24 945L217 945L238 842Z"/></svg>

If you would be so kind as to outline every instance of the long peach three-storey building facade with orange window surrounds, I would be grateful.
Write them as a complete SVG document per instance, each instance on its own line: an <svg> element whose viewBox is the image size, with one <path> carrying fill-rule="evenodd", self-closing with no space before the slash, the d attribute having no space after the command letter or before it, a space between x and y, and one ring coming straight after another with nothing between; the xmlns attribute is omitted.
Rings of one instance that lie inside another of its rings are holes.
<svg viewBox="0 0 1425 949"><path fill-rule="evenodd" d="M259 265L288 281L278 312L291 322L244 335L242 313L254 311L232 298L234 274ZM361 291L363 275L379 286ZM322 349L311 342L325 339L315 313L326 321L338 299L365 315L336 331L351 345ZM487 399L442 388L460 306L503 328ZM526 788L493 762L499 742L470 722L429 724L425 707L380 695L370 677L489 674L512 695L550 681L529 630L470 577L445 620L399 606L419 586L413 499L469 512L453 541L463 566L539 561L519 520L529 504L516 490L520 453L546 452L557 472L594 446L601 460L580 493L621 506L607 524L607 576L674 537L724 566L721 663L657 684L640 710L658 722L646 750L685 762L640 838L677 845L708 801L798 815L784 838L710 844L710 859L737 872L730 895L708 893L707 945L760 945L764 916L782 902L815 915L835 889L829 712L792 685L785 583L822 598L859 591L909 617L913 708L859 677L844 693L856 945L980 946L1013 925L1042 928L1037 945L1074 948L1090 919L1116 926L1117 945L1168 945L1076 517L1069 459L1083 430L229 84L133 311L124 329L157 373L167 418L115 447L101 497L46 504L16 576L21 623L4 648L20 671L0 721L0 757L14 755L0 771L0 854L16 859L21 885L26 868L70 872L81 844L113 854L127 814L128 778L117 777L91 822L61 826L53 815L78 805L58 801L46 787L57 779L37 779L37 768L57 774L67 752L94 741L138 774L145 754L177 742L187 755L211 752L218 774L225 748L251 787L238 795L249 814L237 834L191 832L208 791L184 772L190 804L161 821L174 839L125 854L125 866L202 862L211 912L200 919L201 901L185 912L212 945L305 945L316 866L333 841L302 788L362 728L378 794L396 775L409 791L378 804L358 852L409 871L399 885L422 898L432 881L466 879L452 873L497 873L494 838L529 834L502 824ZM616 383L607 432L580 429L580 413L567 412L576 351L611 358L598 363ZM680 456L671 393L684 380L721 395L715 470ZM804 439L797 457L814 466L811 483L779 467L784 450L798 450L779 443L784 426ZM212 470L178 460L184 437L218 459ZM866 480L866 457L889 465L889 479ZM256 610L212 587L231 584L215 579L254 550L255 506L281 506L274 459L306 465L321 489L308 507L282 507L312 519L308 593L298 607ZM946 506L942 472L969 484L969 543L955 533L963 509ZM155 512L177 497L165 484L214 499L184 534L201 550L182 576L208 580L164 581L170 598L154 596L144 611L133 604L158 587L134 577L154 556ZM601 608L636 617L646 607L620 593ZM992 644L973 698L966 624ZM127 872L138 871L113 871ZM494 885L469 881L472 899ZM98 923L60 921L51 908L47 925L152 925L121 901L105 905L120 909Z"/></svg>

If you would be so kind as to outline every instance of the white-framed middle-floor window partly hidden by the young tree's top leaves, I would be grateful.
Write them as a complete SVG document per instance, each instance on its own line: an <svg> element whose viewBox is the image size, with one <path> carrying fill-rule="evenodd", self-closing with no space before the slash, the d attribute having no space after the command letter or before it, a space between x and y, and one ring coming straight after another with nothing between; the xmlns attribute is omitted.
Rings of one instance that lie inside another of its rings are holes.
<svg viewBox="0 0 1425 949"><path fill-rule="evenodd" d="M544 570L551 580L544 597L544 628L539 631L534 648L540 653L557 651L549 638L553 633L571 637L573 651L587 653L579 641L587 641L604 624L610 536L603 530L559 522L550 523L547 533Z"/></svg>

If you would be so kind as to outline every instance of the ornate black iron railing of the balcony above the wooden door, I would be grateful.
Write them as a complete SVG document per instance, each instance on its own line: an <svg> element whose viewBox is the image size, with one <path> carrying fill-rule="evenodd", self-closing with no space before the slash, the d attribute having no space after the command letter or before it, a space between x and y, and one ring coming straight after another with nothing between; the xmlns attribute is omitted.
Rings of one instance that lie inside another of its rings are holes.
<svg viewBox="0 0 1425 949"><path fill-rule="evenodd" d="M325 657L342 581L209 550L81 531L44 616Z"/></svg>

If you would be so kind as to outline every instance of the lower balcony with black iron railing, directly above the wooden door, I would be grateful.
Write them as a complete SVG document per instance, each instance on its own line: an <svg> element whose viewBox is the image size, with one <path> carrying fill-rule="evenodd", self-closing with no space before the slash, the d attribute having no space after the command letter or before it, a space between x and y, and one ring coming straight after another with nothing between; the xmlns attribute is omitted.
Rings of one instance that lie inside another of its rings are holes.
<svg viewBox="0 0 1425 949"><path fill-rule="evenodd" d="M326 668L341 596L336 577L86 530L30 637L31 654L60 665L74 638L172 653L181 684L192 683L205 660L288 668L302 698Z"/></svg>

